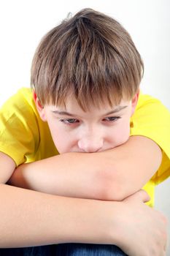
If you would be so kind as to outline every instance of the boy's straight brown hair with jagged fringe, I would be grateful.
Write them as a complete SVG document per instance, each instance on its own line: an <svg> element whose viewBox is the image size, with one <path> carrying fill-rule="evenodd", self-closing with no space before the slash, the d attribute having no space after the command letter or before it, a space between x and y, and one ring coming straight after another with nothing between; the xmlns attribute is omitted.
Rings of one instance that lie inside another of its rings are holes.
<svg viewBox="0 0 170 256"><path fill-rule="evenodd" d="M84 9L42 38L31 87L42 105L61 105L72 92L83 110L105 99L118 104L139 89L144 65L128 32L101 12Z"/></svg>

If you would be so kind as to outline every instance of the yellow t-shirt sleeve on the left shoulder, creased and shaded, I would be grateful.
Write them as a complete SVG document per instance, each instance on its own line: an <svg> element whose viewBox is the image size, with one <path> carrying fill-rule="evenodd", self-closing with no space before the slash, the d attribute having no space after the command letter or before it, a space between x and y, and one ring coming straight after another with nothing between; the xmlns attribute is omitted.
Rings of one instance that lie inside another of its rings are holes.
<svg viewBox="0 0 170 256"><path fill-rule="evenodd" d="M12 157L18 166L34 154L38 139L34 110L22 94L15 94L0 110L0 151Z"/></svg>

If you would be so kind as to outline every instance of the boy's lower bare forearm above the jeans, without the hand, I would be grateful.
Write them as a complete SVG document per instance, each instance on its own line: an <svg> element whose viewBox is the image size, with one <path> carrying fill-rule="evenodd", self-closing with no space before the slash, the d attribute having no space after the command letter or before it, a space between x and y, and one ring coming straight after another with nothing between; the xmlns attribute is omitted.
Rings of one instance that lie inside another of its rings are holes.
<svg viewBox="0 0 170 256"><path fill-rule="evenodd" d="M111 218L106 216L111 211L109 202L58 197L8 185L0 185L0 200L1 248L66 242L115 244L109 233Z"/></svg>

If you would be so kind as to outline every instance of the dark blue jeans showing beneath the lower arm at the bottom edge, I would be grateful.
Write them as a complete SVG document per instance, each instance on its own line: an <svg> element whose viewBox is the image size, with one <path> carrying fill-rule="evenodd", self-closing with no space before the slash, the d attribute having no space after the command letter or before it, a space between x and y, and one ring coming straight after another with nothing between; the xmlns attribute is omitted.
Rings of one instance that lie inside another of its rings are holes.
<svg viewBox="0 0 170 256"><path fill-rule="evenodd" d="M26 248L0 249L0 256L125 256L115 245L53 244Z"/></svg>

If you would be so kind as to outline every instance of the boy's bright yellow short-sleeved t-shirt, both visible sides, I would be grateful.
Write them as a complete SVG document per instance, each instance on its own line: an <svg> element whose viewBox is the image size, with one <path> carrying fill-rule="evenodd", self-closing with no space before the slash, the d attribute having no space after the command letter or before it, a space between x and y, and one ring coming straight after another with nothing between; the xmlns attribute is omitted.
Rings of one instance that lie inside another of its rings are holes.
<svg viewBox="0 0 170 256"><path fill-rule="evenodd" d="M163 151L161 166L144 186L152 198L149 205L153 206L155 184L170 175L170 113L158 99L141 93L131 123L131 135L146 136ZM0 151L12 157L17 166L58 154L47 122L36 110L31 89L20 89L2 106Z"/></svg>

